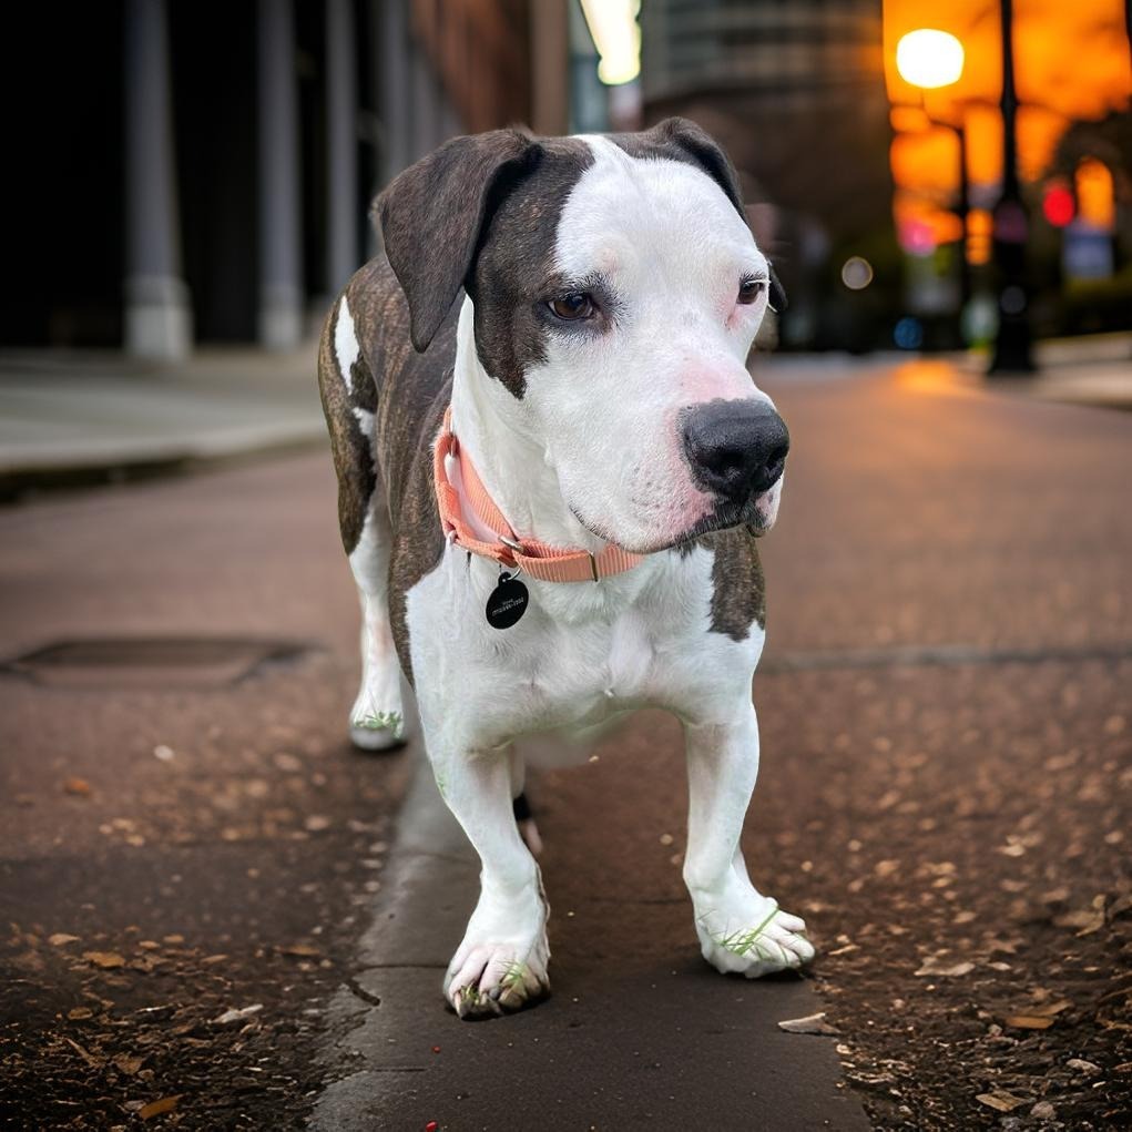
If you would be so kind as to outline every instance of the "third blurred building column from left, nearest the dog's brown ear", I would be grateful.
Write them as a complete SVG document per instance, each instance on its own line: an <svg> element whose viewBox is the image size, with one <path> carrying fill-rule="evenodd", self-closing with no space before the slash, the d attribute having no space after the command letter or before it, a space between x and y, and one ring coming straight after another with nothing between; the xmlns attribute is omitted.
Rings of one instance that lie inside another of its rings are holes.
<svg viewBox="0 0 1132 1132"><path fill-rule="evenodd" d="M358 74L350 0L326 3L326 293L358 269Z"/></svg>

